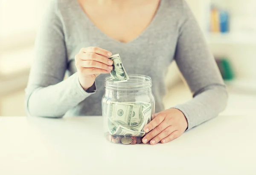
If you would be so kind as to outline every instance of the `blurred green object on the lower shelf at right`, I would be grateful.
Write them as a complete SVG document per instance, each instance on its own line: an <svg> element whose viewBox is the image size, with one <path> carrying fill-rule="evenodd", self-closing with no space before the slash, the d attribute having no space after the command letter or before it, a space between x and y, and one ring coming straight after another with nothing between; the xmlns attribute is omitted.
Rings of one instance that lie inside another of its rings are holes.
<svg viewBox="0 0 256 175"><path fill-rule="evenodd" d="M218 65L218 68L220 69L222 78L224 80L233 80L235 75L230 61L225 57L221 57L219 59L216 59L216 63Z"/></svg>

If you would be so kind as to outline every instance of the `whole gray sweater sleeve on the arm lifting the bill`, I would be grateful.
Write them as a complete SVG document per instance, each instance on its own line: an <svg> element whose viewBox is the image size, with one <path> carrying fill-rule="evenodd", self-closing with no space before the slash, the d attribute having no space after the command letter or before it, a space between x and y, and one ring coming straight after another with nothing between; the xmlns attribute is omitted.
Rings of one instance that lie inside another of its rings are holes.
<svg viewBox="0 0 256 175"><path fill-rule="evenodd" d="M96 91L95 84L90 92L84 91L77 73L64 80L67 51L58 13L58 0L52 0L35 41L35 56L25 89L25 108L28 115L62 117Z"/></svg>

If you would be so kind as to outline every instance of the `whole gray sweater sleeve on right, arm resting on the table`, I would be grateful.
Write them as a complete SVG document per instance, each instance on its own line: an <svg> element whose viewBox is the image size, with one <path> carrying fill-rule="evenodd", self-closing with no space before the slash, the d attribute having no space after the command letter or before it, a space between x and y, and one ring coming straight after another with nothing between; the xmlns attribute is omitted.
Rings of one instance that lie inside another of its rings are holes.
<svg viewBox="0 0 256 175"><path fill-rule="evenodd" d="M227 89L204 35L183 0L175 60L193 93L192 100L174 106L186 116L187 130L218 116L227 106Z"/></svg>

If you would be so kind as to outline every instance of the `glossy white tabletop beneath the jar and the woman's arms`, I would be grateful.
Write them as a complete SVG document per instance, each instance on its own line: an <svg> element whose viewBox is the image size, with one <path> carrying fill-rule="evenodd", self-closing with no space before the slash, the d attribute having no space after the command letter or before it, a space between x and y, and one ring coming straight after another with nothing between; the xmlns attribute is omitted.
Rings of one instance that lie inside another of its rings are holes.
<svg viewBox="0 0 256 175"><path fill-rule="evenodd" d="M255 175L255 124L219 116L151 146L108 143L102 117L0 117L0 175Z"/></svg>

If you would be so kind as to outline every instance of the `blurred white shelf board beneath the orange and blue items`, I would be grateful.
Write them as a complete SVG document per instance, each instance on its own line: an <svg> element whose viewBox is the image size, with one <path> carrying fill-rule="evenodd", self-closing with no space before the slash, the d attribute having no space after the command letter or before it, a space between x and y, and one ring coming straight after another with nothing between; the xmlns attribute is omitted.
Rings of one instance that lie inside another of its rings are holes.
<svg viewBox="0 0 256 175"><path fill-rule="evenodd" d="M205 36L209 44L256 44L256 34L211 33Z"/></svg>

